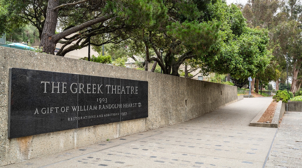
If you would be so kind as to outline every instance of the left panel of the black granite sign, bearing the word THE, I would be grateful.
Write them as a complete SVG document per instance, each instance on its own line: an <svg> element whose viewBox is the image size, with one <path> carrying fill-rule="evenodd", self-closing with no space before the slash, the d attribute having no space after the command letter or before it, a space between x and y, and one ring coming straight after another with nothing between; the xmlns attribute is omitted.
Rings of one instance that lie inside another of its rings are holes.
<svg viewBox="0 0 302 168"><path fill-rule="evenodd" d="M67 87L77 80L77 74L11 68L8 137L77 128L76 120L68 121L77 117L71 109L77 105L77 94Z"/></svg>

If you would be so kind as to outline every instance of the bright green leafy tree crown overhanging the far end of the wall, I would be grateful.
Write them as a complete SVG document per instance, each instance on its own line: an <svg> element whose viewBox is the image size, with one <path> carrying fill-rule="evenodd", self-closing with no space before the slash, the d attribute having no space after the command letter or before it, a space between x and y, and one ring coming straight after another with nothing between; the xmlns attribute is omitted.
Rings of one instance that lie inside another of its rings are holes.
<svg viewBox="0 0 302 168"><path fill-rule="evenodd" d="M263 72L271 59L267 49L268 31L246 27L246 20L236 5L221 4L219 12L221 40L204 58L202 72L226 73L236 79Z"/></svg>

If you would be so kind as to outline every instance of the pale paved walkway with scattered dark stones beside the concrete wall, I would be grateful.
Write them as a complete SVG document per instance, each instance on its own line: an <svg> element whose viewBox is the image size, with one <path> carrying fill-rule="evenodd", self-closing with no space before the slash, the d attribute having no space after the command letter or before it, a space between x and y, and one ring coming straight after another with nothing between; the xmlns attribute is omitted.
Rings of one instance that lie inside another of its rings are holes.
<svg viewBox="0 0 302 168"><path fill-rule="evenodd" d="M301 113L285 114L279 129L249 126L271 101L244 98L184 123L4 167L302 167Z"/></svg>

